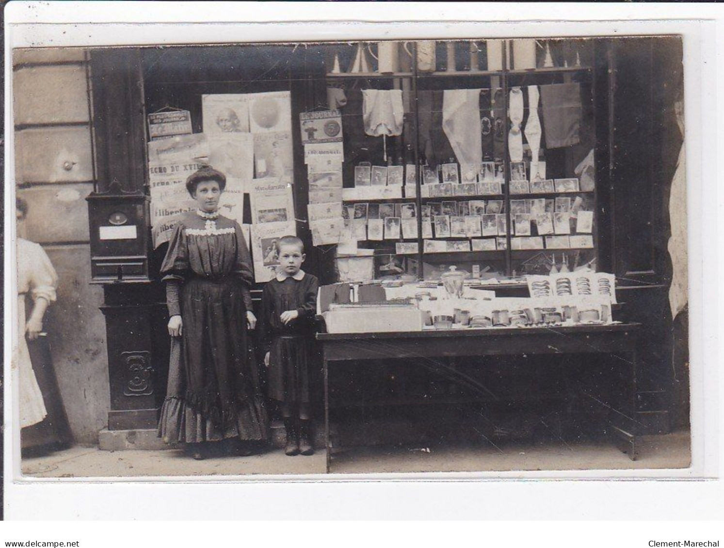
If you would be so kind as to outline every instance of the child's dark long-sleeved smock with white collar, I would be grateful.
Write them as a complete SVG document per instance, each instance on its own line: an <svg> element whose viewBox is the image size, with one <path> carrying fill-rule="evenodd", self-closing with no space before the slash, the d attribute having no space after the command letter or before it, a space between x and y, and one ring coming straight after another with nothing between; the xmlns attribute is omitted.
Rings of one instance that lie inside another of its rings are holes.
<svg viewBox="0 0 724 548"><path fill-rule="evenodd" d="M261 338L269 352L269 398L285 403L309 402L309 367L314 338L314 315L319 281L303 273L295 278L269 281L261 296ZM287 325L282 312L296 310L299 317Z"/></svg>

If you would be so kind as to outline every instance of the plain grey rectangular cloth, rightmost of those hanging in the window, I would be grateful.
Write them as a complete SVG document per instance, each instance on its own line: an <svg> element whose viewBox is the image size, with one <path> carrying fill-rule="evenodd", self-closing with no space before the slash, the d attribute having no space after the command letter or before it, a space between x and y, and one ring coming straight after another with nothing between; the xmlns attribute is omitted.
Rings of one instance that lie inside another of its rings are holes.
<svg viewBox="0 0 724 548"><path fill-rule="evenodd" d="M541 98L546 147L577 145L581 140L581 85L542 85Z"/></svg>

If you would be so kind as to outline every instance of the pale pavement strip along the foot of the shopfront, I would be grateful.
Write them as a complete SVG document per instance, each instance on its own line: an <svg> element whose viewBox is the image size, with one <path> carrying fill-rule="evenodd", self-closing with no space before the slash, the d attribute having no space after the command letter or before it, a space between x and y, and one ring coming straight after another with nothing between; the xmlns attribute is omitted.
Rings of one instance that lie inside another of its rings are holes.
<svg viewBox="0 0 724 548"><path fill-rule="evenodd" d="M335 474L384 474L452 471L626 470L687 468L691 461L689 432L642 436L639 457L631 461L603 441L498 442L346 448L332 458ZM258 474L324 474L324 450L311 456L287 457L274 449L248 457L216 457L194 461L180 450L104 451L75 446L49 455L25 458L28 478L138 478L153 476L240 476Z"/></svg>

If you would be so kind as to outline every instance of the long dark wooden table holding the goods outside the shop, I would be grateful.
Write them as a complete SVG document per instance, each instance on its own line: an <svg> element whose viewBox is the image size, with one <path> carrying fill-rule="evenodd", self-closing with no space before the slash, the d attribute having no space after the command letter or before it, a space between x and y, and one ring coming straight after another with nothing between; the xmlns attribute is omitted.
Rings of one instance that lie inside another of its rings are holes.
<svg viewBox="0 0 724 548"><path fill-rule="evenodd" d="M636 458L636 343L640 324L570 327L491 327L408 333L319 333L324 358L324 440L329 445L329 364L379 359L535 354L606 354L620 366L620 393L608 407L608 431L619 447ZM440 367L442 361L436 361ZM481 363L484 367L484 363Z"/></svg>

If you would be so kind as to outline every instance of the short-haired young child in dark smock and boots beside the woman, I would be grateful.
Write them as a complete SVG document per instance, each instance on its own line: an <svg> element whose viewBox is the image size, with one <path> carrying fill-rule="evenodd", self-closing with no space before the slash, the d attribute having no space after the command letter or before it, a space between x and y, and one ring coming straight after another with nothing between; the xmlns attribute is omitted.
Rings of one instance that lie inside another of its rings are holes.
<svg viewBox="0 0 724 548"><path fill-rule="evenodd" d="M300 270L304 244L296 236L277 241L277 276L261 296L261 341L269 369L269 397L281 404L287 455L314 453L310 434L309 369L319 281Z"/></svg>

